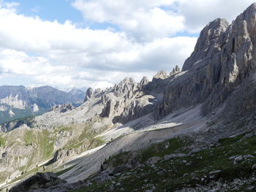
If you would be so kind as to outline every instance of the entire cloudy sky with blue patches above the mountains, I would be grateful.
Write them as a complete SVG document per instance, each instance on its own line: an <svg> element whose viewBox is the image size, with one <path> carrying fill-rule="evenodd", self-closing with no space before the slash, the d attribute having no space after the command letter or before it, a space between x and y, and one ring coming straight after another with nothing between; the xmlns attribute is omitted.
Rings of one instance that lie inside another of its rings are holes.
<svg viewBox="0 0 256 192"><path fill-rule="evenodd" d="M167 72L252 0L0 0L0 85L106 88Z"/></svg>

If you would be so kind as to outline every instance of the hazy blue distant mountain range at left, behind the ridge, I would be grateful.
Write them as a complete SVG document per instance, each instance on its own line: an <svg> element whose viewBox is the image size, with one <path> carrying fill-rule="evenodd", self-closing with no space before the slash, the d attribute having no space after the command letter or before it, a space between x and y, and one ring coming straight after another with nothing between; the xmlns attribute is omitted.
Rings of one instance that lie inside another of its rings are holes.
<svg viewBox="0 0 256 192"><path fill-rule="evenodd" d="M85 93L77 88L68 92L50 86L26 88L20 86L0 86L0 123L31 115L48 112L53 105L73 104L79 106Z"/></svg>

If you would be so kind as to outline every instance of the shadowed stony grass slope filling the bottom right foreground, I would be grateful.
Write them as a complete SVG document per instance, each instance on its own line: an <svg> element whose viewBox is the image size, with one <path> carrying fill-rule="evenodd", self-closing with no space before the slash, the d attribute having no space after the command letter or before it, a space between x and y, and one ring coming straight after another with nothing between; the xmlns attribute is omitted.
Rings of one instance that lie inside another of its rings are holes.
<svg viewBox="0 0 256 192"><path fill-rule="evenodd" d="M178 137L146 150L119 153L82 191L256 191L256 135L241 134L191 149Z"/></svg>

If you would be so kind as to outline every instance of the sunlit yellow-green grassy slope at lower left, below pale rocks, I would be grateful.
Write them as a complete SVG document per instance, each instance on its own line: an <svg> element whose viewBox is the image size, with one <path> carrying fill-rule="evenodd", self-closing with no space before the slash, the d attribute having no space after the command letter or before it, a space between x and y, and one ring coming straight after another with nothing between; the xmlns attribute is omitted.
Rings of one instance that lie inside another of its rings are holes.
<svg viewBox="0 0 256 192"><path fill-rule="evenodd" d="M26 157L29 158L29 162L26 166L19 167L20 172L23 172L23 175L17 178L17 180L27 177L29 174L36 173L38 171L42 172L42 166L37 167L37 164L47 161L50 158L53 158L53 155L56 151L54 149L54 144L59 137L60 132L65 131L69 133L67 137L67 142L65 142L64 147L61 147L63 150L73 150L78 149L82 145L86 145L86 148L82 150L90 150L91 148L98 147L104 143L104 141L95 137L96 133L91 131L92 123L80 123L73 124L69 126L61 126L55 128L54 130L48 129L34 129L34 128L22 128L10 131L7 134L0 134L0 147L13 147L13 150L23 150L31 149L32 153ZM81 151L83 152L83 151ZM23 159L25 156L15 156L15 159ZM52 169L52 166L45 167L45 171L56 171L59 168ZM0 173L0 183L3 182L10 173Z"/></svg>

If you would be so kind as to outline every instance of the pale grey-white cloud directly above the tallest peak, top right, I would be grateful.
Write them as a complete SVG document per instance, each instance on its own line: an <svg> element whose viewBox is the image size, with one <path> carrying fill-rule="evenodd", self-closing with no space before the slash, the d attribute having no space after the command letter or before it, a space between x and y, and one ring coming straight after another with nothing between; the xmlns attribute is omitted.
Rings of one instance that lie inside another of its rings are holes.
<svg viewBox="0 0 256 192"><path fill-rule="evenodd" d="M255 0L178 0L178 12L185 18L187 31L199 32L215 18L225 18L230 23Z"/></svg>

